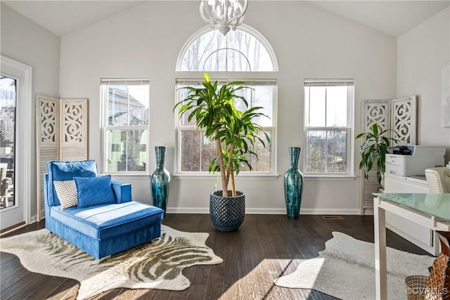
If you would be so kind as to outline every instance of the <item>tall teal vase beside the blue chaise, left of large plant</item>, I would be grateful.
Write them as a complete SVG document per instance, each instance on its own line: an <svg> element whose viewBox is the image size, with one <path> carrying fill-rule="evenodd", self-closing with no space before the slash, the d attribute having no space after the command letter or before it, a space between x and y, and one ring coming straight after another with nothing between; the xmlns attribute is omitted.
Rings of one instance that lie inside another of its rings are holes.
<svg viewBox="0 0 450 300"><path fill-rule="evenodd" d="M164 209L164 215L166 214L170 183L169 171L164 168L166 149L166 146L155 146L156 169L150 177L153 206Z"/></svg>

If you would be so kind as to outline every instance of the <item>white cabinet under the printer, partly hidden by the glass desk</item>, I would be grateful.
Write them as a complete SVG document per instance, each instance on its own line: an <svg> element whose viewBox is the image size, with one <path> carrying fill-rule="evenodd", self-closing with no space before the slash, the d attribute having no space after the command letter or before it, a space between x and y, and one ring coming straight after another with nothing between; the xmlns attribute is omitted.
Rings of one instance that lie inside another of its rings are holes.
<svg viewBox="0 0 450 300"><path fill-rule="evenodd" d="M409 177L385 173L385 193L429 193L425 176ZM386 212L386 227L433 256L439 254L439 237L434 230L394 213Z"/></svg>

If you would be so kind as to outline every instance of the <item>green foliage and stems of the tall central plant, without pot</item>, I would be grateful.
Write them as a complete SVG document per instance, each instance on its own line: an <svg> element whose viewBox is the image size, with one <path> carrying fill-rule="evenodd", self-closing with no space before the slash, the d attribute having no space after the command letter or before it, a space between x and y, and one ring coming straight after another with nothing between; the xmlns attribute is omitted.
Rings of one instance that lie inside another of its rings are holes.
<svg viewBox="0 0 450 300"><path fill-rule="evenodd" d="M211 82L210 75L205 73L204 77L201 87L181 88L188 90L188 96L174 106L174 111L178 108L180 116L188 113L188 121L195 120L197 128L205 130L205 137L216 143L217 152L210 162L209 171L220 172L222 196L229 196L229 184L231 196L236 196L235 173L238 175L241 165L252 170L248 158L257 158L252 151L255 142L259 141L263 146L266 146L264 140L270 142L269 135L254 121L268 116L259 111L261 106L248 108L248 101L238 94L241 89L250 89L243 86L244 82L235 81L219 88L217 81ZM240 111L235 101L242 101L248 109Z"/></svg>

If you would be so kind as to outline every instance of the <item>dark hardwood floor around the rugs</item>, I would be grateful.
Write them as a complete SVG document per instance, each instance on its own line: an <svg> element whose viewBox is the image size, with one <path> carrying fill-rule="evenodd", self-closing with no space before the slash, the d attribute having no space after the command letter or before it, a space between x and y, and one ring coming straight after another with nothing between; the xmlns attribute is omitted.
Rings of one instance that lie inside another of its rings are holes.
<svg viewBox="0 0 450 300"><path fill-rule="evenodd" d="M308 289L277 287L273 280L292 273L300 259L314 258L325 249L332 232L373 242L373 217L342 215L325 220L321 215L245 215L236 232L219 232L206 214L167 214L164 224L176 230L209 232L207 245L224 259L219 265L196 265L184 270L191 287L174 292L158 289L113 289L92 299L335 299ZM2 237L44 227L27 225ZM1 243L1 239L0 239ZM427 254L398 235L387 232L387 245L415 254ZM0 299L75 299L76 280L32 273L17 256L1 252ZM37 258L39 259L39 258Z"/></svg>

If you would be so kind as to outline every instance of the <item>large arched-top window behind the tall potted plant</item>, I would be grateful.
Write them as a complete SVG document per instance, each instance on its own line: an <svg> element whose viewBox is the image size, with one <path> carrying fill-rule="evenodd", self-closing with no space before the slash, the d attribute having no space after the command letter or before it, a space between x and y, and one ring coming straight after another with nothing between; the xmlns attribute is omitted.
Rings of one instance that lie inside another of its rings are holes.
<svg viewBox="0 0 450 300"><path fill-rule="evenodd" d="M274 79L274 71L276 70L276 58L269 43L248 26L230 31L226 36L218 30L208 29L203 33L200 32L184 46L177 64L177 71L183 77L176 80L177 101L187 96L186 89L179 88L201 85L203 72L209 72L211 80L219 81L219 85L230 81L242 81L245 82L245 86L252 87L240 92L247 99L249 108L264 107L261 112L269 118L260 118L257 123L271 138L271 142L266 144L265 148L262 144L255 144L253 151L258 155L258 160L254 156L248 158L253 168L252 173L275 173L277 82ZM238 104L243 105L240 102ZM207 173L209 163L215 154L215 144L205 138L204 131L197 130L195 120L188 122L187 115L181 118L177 115L176 118L178 173ZM248 169L241 168L241 172L246 171Z"/></svg>

